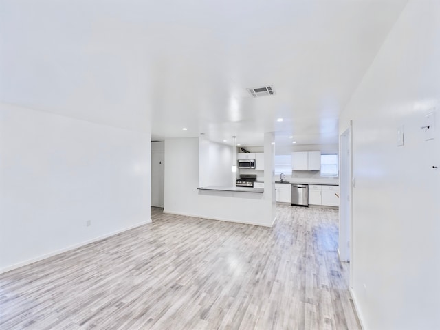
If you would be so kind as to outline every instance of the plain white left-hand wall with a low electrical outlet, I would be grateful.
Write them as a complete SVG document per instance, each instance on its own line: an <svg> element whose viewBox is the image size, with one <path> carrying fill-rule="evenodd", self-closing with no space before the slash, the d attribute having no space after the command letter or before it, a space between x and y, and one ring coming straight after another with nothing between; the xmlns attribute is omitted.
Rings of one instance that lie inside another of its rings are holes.
<svg viewBox="0 0 440 330"><path fill-rule="evenodd" d="M151 221L150 135L6 104L0 134L0 272Z"/></svg>

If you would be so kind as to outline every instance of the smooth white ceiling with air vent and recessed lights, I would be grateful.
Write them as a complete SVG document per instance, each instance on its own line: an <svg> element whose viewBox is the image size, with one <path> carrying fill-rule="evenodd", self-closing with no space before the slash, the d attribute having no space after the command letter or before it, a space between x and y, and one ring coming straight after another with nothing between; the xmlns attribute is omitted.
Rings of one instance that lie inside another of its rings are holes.
<svg viewBox="0 0 440 330"><path fill-rule="evenodd" d="M337 143L339 113L406 2L3 0L0 97L151 125L153 140ZM263 85L276 95L246 91Z"/></svg>

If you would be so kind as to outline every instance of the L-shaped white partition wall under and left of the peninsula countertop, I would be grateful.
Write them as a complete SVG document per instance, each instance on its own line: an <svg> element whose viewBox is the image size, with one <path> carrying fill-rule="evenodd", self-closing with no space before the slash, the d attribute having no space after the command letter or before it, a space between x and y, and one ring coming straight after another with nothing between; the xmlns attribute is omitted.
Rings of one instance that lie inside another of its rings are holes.
<svg viewBox="0 0 440 330"><path fill-rule="evenodd" d="M199 187L199 139L165 140L164 211L208 219L272 226L270 192L216 192ZM206 150L206 149L205 149ZM230 166L228 166L228 169Z"/></svg>

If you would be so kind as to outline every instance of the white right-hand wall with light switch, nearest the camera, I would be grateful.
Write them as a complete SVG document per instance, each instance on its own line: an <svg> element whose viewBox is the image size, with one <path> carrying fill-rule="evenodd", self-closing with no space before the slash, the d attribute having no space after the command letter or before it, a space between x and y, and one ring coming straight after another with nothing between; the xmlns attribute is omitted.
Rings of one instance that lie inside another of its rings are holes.
<svg viewBox="0 0 440 330"><path fill-rule="evenodd" d="M440 2L409 1L340 118L353 120L352 292L366 330L440 329ZM404 125L404 146L397 128Z"/></svg>

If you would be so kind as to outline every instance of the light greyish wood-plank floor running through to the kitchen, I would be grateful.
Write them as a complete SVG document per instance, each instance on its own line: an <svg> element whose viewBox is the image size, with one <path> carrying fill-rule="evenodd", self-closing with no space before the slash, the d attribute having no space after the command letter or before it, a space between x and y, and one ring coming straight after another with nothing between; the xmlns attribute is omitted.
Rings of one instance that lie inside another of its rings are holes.
<svg viewBox="0 0 440 330"><path fill-rule="evenodd" d="M163 214L0 275L0 329L360 329L338 210L274 228Z"/></svg>

